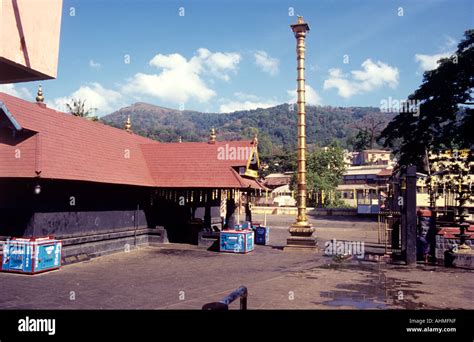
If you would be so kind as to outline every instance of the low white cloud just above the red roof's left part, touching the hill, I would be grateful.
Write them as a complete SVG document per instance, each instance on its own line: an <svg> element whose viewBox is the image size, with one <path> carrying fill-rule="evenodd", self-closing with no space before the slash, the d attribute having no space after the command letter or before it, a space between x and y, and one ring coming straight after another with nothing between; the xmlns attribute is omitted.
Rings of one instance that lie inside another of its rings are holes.
<svg viewBox="0 0 474 342"><path fill-rule="evenodd" d="M96 114L99 116L109 114L124 105L119 92L106 89L96 82L81 86L69 96L58 97L46 103L48 107L66 112L66 104L71 103L73 99L85 100L85 108L97 108Z"/></svg>

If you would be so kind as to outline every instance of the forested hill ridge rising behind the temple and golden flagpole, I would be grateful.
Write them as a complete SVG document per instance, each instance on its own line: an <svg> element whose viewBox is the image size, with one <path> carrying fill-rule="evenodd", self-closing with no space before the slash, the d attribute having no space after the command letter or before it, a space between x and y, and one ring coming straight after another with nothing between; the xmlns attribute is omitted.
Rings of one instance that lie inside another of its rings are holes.
<svg viewBox="0 0 474 342"><path fill-rule="evenodd" d="M282 104L266 109L215 114L180 111L139 102L106 115L101 120L115 127L123 127L130 115L135 133L162 142L178 141L179 136L183 141L206 141L212 127L217 130L218 140L240 140L251 138L256 128L260 142L274 147L291 147L296 145L296 108ZM393 117L374 107L306 108L309 145L324 146L338 140L344 147L351 148L354 136L366 118L383 121L385 127Z"/></svg>

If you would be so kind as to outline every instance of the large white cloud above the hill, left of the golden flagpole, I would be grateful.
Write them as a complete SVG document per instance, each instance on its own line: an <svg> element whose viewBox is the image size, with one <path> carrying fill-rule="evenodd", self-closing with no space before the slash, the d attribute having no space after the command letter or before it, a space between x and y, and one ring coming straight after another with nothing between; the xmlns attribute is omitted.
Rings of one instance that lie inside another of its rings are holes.
<svg viewBox="0 0 474 342"><path fill-rule="evenodd" d="M122 91L153 96L175 104L186 103L190 99L204 103L216 95L204 78L229 81L229 74L237 71L240 60L238 53L212 53L205 48L198 49L189 60L177 53L157 54L149 64L160 69L160 73L137 73L122 87Z"/></svg>

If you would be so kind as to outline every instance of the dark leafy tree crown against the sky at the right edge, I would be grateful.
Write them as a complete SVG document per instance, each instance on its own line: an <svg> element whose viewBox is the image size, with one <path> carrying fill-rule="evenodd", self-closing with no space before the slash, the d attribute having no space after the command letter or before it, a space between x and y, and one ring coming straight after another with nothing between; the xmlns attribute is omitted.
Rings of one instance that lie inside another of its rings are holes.
<svg viewBox="0 0 474 342"><path fill-rule="evenodd" d="M382 132L381 140L399 165L428 169L428 151L473 147L474 30L464 33L456 53L423 75L421 86L408 97L417 111L400 112Z"/></svg>

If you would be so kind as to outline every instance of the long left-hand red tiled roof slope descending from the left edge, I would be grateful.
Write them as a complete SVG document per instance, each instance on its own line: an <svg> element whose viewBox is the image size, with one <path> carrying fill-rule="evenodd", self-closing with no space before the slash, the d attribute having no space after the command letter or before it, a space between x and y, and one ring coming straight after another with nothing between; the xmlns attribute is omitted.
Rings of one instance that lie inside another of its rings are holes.
<svg viewBox="0 0 474 342"><path fill-rule="evenodd" d="M35 158L15 158L21 145L0 144L1 164L17 165L1 168L0 177L35 177L37 170L42 178L154 185L140 144L159 143L4 93L0 101L23 129L37 132L22 142Z"/></svg>

